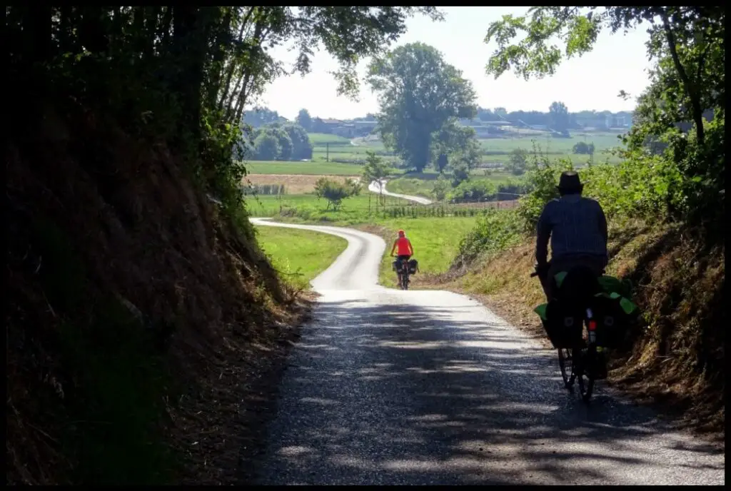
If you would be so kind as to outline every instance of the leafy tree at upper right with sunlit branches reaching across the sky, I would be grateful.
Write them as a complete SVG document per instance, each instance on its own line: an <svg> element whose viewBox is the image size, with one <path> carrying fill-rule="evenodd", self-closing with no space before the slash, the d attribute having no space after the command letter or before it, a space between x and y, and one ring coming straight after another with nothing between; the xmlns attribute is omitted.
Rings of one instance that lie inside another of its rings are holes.
<svg viewBox="0 0 731 491"><path fill-rule="evenodd" d="M499 77L512 69L526 80L553 75L564 55L556 45L548 45L549 39L564 39L571 58L590 51L602 28L615 33L648 25L648 57L656 61L656 68L651 85L638 99L635 126L626 141L631 152L641 154L646 142L664 138L669 143L664 155L685 179L681 213L697 223L712 220L712 228L717 228L725 209L724 7L588 7L584 12L580 7L532 7L529 15L506 15L492 23L485 42L495 39L497 49L488 61L488 73ZM512 44L521 31L526 37ZM714 115L711 123L704 118L707 110ZM686 121L692 121L692 138L679 128ZM713 132L709 142L707 128Z"/></svg>

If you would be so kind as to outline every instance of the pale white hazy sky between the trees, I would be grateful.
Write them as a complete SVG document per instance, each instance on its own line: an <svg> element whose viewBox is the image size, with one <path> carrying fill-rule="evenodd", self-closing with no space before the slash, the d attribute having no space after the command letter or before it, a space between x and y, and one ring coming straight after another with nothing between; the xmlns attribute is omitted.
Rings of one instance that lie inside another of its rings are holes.
<svg viewBox="0 0 731 491"><path fill-rule="evenodd" d="M488 26L501 15L523 15L528 7L438 7L445 13L443 22L432 22L419 15L407 20L408 31L395 45L425 42L442 52L447 63L463 72L477 92L481 107L505 107L508 111L548 111L553 101L564 102L569 111L633 110L635 96L648 85L644 29L629 34L603 31L594 50L581 58L565 60L553 77L529 82L506 72L498 80L485 75L485 64L495 49L493 43L483 42ZM394 45L394 46L395 46ZM562 46L561 46L562 47ZM295 53L287 46L276 47L273 56L282 61L294 61ZM358 66L365 75L368 59ZM320 118L356 118L379 110L376 96L365 83L361 86L360 102L336 95L336 81L328 72L337 68L336 62L324 50L316 53L312 72L306 77L289 75L275 80L257 104L276 110L285 118L295 118L305 107L312 116ZM624 101L620 90L632 94Z"/></svg>

